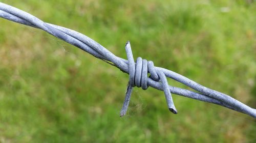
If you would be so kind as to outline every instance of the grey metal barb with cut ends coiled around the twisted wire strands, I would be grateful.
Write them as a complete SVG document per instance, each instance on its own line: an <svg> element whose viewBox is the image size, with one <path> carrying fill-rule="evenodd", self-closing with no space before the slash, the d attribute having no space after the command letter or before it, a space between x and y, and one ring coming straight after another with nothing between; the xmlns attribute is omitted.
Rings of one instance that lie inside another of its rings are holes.
<svg viewBox="0 0 256 143"><path fill-rule="evenodd" d="M129 106L129 102L131 99L133 87L138 87L138 88L141 87L143 90L146 90L148 88L148 85L147 85L148 73L150 73L149 78L157 82L161 82L168 109L175 114L178 113L175 108L172 94L170 93L169 85L168 85L165 74L162 71L157 70L152 61L147 61L145 59L142 59L141 57L137 58L136 64L135 64L130 41L126 43L125 51L128 59L128 65L129 65L129 83L127 85L126 95L125 95L123 107L120 112L120 117L124 116L127 111L127 108Z"/></svg>

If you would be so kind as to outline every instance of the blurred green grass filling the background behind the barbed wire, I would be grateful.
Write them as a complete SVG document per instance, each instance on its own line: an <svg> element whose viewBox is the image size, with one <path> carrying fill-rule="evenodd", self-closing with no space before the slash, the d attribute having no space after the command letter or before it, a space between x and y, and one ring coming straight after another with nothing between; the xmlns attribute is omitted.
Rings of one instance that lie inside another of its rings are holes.
<svg viewBox="0 0 256 143"><path fill-rule="evenodd" d="M130 40L135 58L256 108L253 2L2 2L81 32L125 59ZM176 95L173 115L152 88L136 89L119 118L128 75L45 32L0 23L0 142L256 141L254 119Z"/></svg>

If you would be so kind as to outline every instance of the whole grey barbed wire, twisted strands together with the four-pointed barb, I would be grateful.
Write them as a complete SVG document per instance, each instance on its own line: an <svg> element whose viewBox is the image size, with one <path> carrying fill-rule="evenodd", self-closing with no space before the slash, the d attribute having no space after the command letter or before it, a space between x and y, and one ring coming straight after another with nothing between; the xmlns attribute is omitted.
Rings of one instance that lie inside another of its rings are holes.
<svg viewBox="0 0 256 143"><path fill-rule="evenodd" d="M167 106L169 110L173 113L177 113L177 110L174 106L172 95L170 93L221 105L229 109L245 113L253 118L256 118L256 109L253 109L224 93L206 88L203 85L193 80L190 80L176 72L161 67L155 67L152 61L147 62L146 60L138 58L137 62L135 63L133 60L130 42L127 42L125 45L126 54L128 58L127 61L125 59L119 58L99 43L95 42L91 38L81 33L70 30L69 28L46 23L29 13L26 13L22 10L6 5L4 3L0 3L0 17L20 24L25 24L28 26L44 30L47 33L63 41L66 41L92 54L96 58L101 59L119 68L121 71L129 74L129 84L127 86L126 96L123 107L120 112L120 116L125 115L125 112L129 106L129 101L131 98L133 87L136 86L142 87L142 89L144 90L147 89L147 87L152 87L164 91ZM141 63L141 61L142 64L139 64ZM147 77L148 73L150 73L150 77ZM170 86L167 83L166 77L179 81L187 85L188 87L196 90L198 93Z"/></svg>

